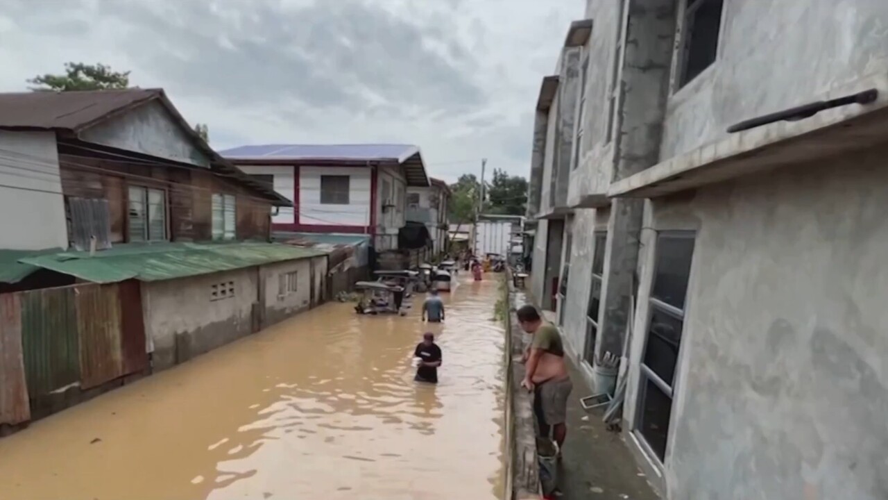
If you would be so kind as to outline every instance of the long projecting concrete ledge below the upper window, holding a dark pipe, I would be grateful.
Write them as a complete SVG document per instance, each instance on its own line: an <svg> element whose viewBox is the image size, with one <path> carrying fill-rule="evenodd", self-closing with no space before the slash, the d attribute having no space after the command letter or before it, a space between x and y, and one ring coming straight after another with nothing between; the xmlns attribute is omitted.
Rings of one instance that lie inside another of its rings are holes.
<svg viewBox="0 0 888 500"><path fill-rule="evenodd" d="M776 122L733 133L614 182L607 196L656 198L884 142L888 136L888 73L861 78L811 101L871 88L879 92L871 104L828 109L797 122ZM802 103L788 103L792 104Z"/></svg>

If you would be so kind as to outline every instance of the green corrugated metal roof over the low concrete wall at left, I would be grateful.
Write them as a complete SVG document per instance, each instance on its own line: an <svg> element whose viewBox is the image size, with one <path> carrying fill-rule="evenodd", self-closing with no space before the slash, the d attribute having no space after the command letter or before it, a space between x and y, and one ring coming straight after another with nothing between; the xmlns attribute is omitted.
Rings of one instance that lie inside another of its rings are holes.
<svg viewBox="0 0 888 500"><path fill-rule="evenodd" d="M89 252L32 255L20 263L61 272L93 283L124 279L161 281L272 262L291 261L326 253L278 243L160 243L118 245Z"/></svg>

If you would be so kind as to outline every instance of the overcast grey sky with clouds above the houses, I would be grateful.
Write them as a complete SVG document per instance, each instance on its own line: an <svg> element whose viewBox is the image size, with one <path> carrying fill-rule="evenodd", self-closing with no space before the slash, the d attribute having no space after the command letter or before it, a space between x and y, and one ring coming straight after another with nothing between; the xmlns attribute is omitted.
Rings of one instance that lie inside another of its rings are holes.
<svg viewBox="0 0 888 500"><path fill-rule="evenodd" d="M66 61L163 87L216 149L397 142L448 181L527 175L582 0L0 0L0 91Z"/></svg>

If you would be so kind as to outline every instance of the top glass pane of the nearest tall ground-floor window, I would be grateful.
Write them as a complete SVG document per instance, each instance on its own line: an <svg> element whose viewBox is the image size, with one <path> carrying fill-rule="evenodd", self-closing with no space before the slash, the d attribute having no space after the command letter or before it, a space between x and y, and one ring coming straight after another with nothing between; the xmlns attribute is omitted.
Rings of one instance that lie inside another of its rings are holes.
<svg viewBox="0 0 888 500"><path fill-rule="evenodd" d="M651 295L678 309L685 308L694 238L660 234L656 244L656 275Z"/></svg>

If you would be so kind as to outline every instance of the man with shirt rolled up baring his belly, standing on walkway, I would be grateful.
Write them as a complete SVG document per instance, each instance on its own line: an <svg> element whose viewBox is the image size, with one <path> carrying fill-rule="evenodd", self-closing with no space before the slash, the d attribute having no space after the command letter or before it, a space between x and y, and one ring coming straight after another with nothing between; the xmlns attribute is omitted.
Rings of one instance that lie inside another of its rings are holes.
<svg viewBox="0 0 888 500"><path fill-rule="evenodd" d="M550 432L561 447L567 437L567 398L574 384L564 364L564 344L558 328L543 322L532 305L524 305L518 311L518 322L534 340L525 351L526 375L521 385L534 391L534 411L540 426L540 434L550 437Z"/></svg>

